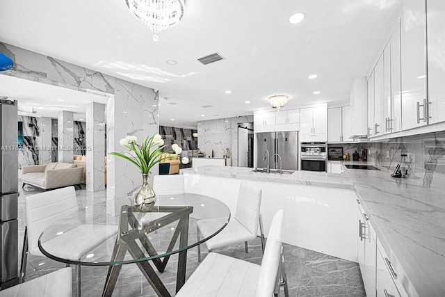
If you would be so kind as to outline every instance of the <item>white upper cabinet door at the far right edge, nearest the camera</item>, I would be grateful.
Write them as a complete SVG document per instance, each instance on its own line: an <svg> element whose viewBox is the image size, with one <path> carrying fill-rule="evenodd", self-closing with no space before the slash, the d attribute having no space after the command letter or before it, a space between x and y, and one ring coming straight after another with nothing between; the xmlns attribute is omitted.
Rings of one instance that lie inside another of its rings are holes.
<svg viewBox="0 0 445 297"><path fill-rule="evenodd" d="M445 121L445 3L428 0L428 106L429 123Z"/></svg>

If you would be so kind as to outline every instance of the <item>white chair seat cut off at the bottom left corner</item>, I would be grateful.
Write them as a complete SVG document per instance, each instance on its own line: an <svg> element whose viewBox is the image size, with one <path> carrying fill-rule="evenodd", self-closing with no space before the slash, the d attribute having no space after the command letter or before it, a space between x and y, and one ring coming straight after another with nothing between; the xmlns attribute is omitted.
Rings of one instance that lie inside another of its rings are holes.
<svg viewBox="0 0 445 297"><path fill-rule="evenodd" d="M42 275L14 287L0 291L0 297L71 297L71 268Z"/></svg>

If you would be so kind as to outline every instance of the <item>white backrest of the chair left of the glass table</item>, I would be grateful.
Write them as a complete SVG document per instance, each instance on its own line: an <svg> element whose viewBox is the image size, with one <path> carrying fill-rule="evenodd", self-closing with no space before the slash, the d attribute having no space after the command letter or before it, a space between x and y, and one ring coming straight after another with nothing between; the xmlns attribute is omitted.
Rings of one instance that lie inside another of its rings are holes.
<svg viewBox="0 0 445 297"><path fill-rule="evenodd" d="M38 251L39 236L47 227L79 211L74 186L29 195L25 204L30 251Z"/></svg>

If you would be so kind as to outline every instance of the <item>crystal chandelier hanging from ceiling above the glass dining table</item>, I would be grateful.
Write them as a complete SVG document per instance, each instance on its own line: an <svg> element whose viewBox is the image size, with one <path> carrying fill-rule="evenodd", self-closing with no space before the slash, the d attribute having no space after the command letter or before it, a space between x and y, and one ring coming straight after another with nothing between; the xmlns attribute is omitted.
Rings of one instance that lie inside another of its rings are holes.
<svg viewBox="0 0 445 297"><path fill-rule="evenodd" d="M125 0L132 15L155 34L170 29L184 17L184 0Z"/></svg>

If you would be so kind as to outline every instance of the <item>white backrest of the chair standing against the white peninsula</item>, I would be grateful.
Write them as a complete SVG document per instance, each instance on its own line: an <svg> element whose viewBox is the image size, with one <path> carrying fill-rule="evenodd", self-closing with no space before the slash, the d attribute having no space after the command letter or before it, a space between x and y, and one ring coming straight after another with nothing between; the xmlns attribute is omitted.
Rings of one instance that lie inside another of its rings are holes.
<svg viewBox="0 0 445 297"><path fill-rule="evenodd" d="M261 189L246 182L241 182L236 204L235 219L250 233L257 235L259 209L261 207Z"/></svg>

